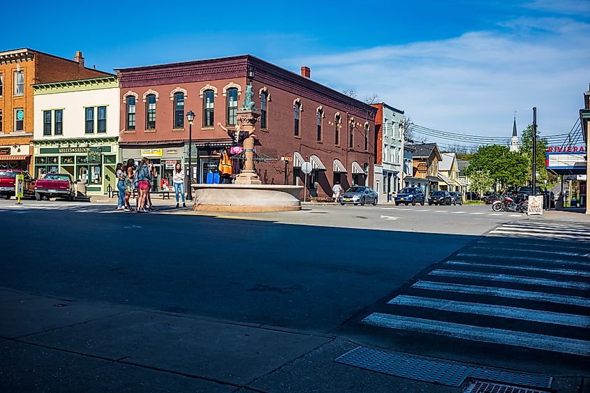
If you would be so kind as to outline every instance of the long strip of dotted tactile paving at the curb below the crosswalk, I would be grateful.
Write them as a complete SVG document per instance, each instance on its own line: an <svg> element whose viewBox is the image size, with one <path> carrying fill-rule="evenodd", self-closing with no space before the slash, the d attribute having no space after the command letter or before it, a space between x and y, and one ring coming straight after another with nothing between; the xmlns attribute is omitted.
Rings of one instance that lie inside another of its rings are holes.
<svg viewBox="0 0 590 393"><path fill-rule="evenodd" d="M460 386L466 378L547 388L551 386L552 381L552 377L548 376L512 373L500 369L423 359L400 353L386 353L367 347L357 347L341 355L335 361L401 378L440 383L448 386Z"/></svg>

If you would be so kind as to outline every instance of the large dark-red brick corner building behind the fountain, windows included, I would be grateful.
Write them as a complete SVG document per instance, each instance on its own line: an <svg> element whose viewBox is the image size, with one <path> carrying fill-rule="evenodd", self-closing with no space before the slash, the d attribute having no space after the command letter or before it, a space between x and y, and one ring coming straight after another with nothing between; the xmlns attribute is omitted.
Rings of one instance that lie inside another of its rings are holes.
<svg viewBox="0 0 590 393"><path fill-rule="evenodd" d="M216 151L230 145L217 124L235 125L249 66L255 72L253 91L261 112L256 154L293 159L288 165L256 162L263 183L302 184L300 168L308 161L312 196L331 196L334 181L344 188L372 184L368 177L374 163L376 109L314 82L307 67L299 75L251 55L117 70L121 158L152 158L163 184L176 162L188 165L186 112L192 110L193 181L214 179L210 174L217 171Z"/></svg>

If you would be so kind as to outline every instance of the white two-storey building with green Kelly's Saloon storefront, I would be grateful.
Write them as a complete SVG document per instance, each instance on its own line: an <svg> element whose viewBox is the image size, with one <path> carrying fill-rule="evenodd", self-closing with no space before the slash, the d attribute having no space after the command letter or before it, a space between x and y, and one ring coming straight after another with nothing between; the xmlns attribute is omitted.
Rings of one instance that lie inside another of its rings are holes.
<svg viewBox="0 0 590 393"><path fill-rule="evenodd" d="M117 77L35 84L34 177L68 173L87 195L115 188L119 141Z"/></svg>

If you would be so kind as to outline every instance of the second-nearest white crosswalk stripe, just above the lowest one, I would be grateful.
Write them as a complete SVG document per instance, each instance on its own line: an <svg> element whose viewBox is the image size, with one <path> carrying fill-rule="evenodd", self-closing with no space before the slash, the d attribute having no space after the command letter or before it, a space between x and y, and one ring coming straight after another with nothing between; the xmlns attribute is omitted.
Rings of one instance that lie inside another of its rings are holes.
<svg viewBox="0 0 590 393"><path fill-rule="evenodd" d="M452 311L456 313L471 313L478 314L480 316L494 316L529 320L533 322L553 323L555 325L590 327L590 317L586 316L555 313L553 311L521 309L519 307L498 306L496 304L457 302L456 300L434 299L432 297L417 297L407 295L399 295L394 297L388 302L388 304L422 307L425 309Z"/></svg>

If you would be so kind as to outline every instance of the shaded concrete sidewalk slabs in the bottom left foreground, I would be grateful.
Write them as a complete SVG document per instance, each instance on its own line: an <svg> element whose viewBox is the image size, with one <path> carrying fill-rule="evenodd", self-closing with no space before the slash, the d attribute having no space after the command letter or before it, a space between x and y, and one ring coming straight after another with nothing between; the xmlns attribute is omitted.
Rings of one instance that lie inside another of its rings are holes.
<svg viewBox="0 0 590 393"><path fill-rule="evenodd" d="M2 288L0 313L0 392L462 392L334 362L359 344L329 334Z"/></svg>

